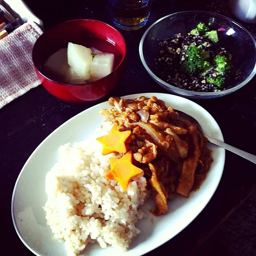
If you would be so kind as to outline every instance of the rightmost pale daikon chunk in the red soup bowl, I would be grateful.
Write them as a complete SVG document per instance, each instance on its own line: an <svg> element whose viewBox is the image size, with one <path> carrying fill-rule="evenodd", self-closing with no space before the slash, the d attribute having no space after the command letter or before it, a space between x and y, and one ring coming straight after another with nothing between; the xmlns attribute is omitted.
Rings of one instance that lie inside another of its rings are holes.
<svg viewBox="0 0 256 256"><path fill-rule="evenodd" d="M91 66L91 81L99 80L113 71L114 67L114 54L103 53L97 54L92 60Z"/></svg>

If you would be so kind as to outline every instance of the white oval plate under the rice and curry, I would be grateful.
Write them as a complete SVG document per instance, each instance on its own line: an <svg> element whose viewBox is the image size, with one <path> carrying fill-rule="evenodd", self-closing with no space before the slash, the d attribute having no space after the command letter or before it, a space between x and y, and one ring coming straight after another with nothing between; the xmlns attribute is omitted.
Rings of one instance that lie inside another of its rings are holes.
<svg viewBox="0 0 256 256"><path fill-rule="evenodd" d="M214 118L198 104L178 96L159 93L134 94L124 98L139 96L156 96L164 100L166 105L196 118L206 134L223 140L220 127ZM46 202L46 173L58 161L58 148L61 145L85 140L100 126L103 122L103 117L99 114L102 108L109 108L108 103L103 102L84 110L52 132L28 158L18 176L12 196L12 220L22 242L38 256L66 255L64 243L52 240L52 233L50 227L46 225L45 212L42 209ZM102 249L95 243L86 246L81 255L106 256L115 253L119 256L142 255L170 240L188 226L209 202L222 176L225 150L213 145L211 148L214 162L200 190L192 192L188 199L176 196L168 203L168 213L160 217L148 212L153 206L152 200L146 202L143 209L148 217L137 223L136 226L141 233L134 239L127 252L110 246Z"/></svg>

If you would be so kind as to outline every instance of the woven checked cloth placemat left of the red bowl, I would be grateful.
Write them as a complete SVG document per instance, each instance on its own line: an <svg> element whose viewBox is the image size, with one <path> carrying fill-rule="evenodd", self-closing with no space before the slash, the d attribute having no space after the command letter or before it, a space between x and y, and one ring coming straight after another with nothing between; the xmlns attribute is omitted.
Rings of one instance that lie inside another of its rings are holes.
<svg viewBox="0 0 256 256"><path fill-rule="evenodd" d="M42 30L26 22L0 40L0 108L38 86L32 48Z"/></svg>

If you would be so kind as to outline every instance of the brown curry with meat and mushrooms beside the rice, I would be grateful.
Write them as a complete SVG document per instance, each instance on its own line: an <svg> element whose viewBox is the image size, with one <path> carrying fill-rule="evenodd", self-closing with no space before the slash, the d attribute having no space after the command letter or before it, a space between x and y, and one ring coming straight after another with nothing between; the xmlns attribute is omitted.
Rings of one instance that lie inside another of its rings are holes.
<svg viewBox="0 0 256 256"><path fill-rule="evenodd" d="M188 197L200 187L213 161L207 139L196 125L182 121L172 107L156 97L124 100L111 97L101 114L119 131L131 131L126 141L134 165L144 171L156 204L154 214L168 212L171 195ZM124 153L115 153L117 158Z"/></svg>

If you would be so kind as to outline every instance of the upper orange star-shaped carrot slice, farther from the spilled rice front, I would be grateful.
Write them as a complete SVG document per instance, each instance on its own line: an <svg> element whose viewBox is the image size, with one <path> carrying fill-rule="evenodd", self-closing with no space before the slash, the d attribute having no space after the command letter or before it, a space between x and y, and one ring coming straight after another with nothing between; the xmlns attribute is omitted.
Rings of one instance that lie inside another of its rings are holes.
<svg viewBox="0 0 256 256"><path fill-rule="evenodd" d="M108 135L97 138L98 142L103 145L102 155L113 152L126 153L125 142L131 133L131 131L119 132L118 127L114 125Z"/></svg>

